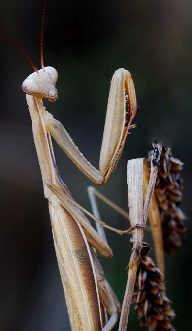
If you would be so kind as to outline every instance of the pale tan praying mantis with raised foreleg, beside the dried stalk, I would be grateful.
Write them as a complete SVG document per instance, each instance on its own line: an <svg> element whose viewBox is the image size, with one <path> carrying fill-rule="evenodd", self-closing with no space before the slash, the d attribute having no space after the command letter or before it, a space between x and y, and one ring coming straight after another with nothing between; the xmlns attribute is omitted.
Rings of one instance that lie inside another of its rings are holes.
<svg viewBox="0 0 192 331"><path fill-rule="evenodd" d="M22 89L27 94L44 195L49 201L71 328L73 331L110 331L117 320L120 305L104 278L93 248L103 257L111 257L112 251L81 210L69 201L70 192L59 176L51 136L88 178L95 184L105 183L116 168L136 114L134 84L131 74L123 68L112 77L98 171L84 158L63 125L45 110L43 98L51 102L57 100L55 84L58 74L54 68L44 67L42 58L41 63L42 69L29 75ZM108 322L105 309L111 315Z"/></svg>

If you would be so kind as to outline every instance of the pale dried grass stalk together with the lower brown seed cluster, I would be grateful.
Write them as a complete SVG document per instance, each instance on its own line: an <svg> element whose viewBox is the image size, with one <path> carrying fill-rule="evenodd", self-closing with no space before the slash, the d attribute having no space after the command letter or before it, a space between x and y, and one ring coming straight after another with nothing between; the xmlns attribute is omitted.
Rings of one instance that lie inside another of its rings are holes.
<svg viewBox="0 0 192 331"><path fill-rule="evenodd" d="M154 146L144 207L143 182L146 185L145 182L147 182L148 178L146 160L135 159L128 161L129 218L131 227L133 228L130 241L133 247L128 265L128 281L122 306L119 331L127 330L128 314L134 288L137 291L134 294L133 302L137 303L136 309L139 316L142 317L142 325L154 331L174 330L171 326L174 312L170 308L169 300L165 297L164 276L156 268L151 258L147 257L149 245L143 243L144 228L136 227L137 225L143 227L146 225L150 202L157 179L161 150L162 147L159 145L156 144ZM157 209L157 205L154 208ZM153 208L151 209L152 211ZM160 226L159 231L161 231Z"/></svg>

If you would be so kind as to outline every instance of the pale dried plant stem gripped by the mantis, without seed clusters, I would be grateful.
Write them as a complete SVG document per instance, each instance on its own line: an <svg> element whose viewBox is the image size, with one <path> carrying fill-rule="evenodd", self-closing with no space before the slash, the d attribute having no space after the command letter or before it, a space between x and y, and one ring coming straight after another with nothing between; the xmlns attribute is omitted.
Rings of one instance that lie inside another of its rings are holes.
<svg viewBox="0 0 192 331"><path fill-rule="evenodd" d="M160 147L159 145L156 145L156 147L158 148L158 152L159 152L156 160L158 164L162 147ZM143 227L146 226L149 205L154 191L157 172L158 172L157 165L154 165L152 163L149 185L146 193L145 204L143 207L143 178L144 178L143 170L145 170L144 163L146 162L147 161L144 158L133 159L128 161L128 168L127 168L128 205L129 205L130 224L131 227L133 228L132 237L131 237L131 243L133 247L129 261L128 280L124 295L124 301L122 305L119 331L127 330L128 314L132 302L137 267L140 262L141 250L143 247L144 229L136 228L136 225L139 224Z"/></svg>

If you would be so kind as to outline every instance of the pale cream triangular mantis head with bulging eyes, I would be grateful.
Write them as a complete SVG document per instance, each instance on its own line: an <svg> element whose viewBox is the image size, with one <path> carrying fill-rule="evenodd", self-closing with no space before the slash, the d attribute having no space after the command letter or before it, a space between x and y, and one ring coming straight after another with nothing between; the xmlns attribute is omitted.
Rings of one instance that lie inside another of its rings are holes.
<svg viewBox="0 0 192 331"><path fill-rule="evenodd" d="M45 98L51 102L57 100L58 73L53 67L44 67L30 74L22 83L22 90L34 97Z"/></svg>

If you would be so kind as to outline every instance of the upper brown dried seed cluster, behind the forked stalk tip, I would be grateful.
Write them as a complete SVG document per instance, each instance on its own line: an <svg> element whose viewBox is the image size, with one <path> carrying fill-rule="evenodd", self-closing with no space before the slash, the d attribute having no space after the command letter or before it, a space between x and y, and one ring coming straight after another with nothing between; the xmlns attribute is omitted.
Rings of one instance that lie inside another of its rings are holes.
<svg viewBox="0 0 192 331"><path fill-rule="evenodd" d="M150 161L153 151L149 152ZM178 207L182 199L183 163L172 156L170 148L162 148L155 193L160 209L164 251L177 253L184 237L186 216Z"/></svg>

